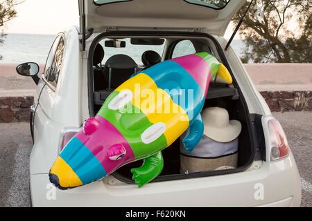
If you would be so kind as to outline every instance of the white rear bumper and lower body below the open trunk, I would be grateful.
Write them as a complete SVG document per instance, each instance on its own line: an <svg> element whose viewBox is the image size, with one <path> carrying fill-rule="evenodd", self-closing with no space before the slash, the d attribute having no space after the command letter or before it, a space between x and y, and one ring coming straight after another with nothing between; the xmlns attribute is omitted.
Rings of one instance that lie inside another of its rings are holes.
<svg viewBox="0 0 312 221"><path fill-rule="evenodd" d="M135 184L118 184L110 176L60 191L49 184L47 175L32 175L32 201L33 206L300 206L300 177L293 162L291 154L254 171L155 182L141 189Z"/></svg>

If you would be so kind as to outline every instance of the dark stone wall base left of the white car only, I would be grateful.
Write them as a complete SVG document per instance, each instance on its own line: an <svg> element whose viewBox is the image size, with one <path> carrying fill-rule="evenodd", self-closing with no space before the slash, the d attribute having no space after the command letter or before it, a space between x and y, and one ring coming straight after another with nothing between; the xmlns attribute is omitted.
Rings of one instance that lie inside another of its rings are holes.
<svg viewBox="0 0 312 221"><path fill-rule="evenodd" d="M28 122L33 97L0 97L0 123Z"/></svg>

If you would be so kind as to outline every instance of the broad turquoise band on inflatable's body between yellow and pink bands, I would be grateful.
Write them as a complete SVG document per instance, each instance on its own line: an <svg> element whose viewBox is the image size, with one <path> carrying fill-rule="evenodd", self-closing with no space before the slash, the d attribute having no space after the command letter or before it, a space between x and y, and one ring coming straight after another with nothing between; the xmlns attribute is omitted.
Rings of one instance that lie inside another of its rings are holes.
<svg viewBox="0 0 312 221"><path fill-rule="evenodd" d="M195 79L175 61L164 61L147 70L158 88L165 90L175 104L187 112L190 122L200 113L205 104L204 93Z"/></svg>

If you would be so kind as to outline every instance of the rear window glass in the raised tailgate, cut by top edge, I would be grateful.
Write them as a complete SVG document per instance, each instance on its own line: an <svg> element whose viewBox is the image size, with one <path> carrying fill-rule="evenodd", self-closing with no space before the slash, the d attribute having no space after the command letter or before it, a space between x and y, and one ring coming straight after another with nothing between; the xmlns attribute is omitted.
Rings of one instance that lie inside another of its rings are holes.
<svg viewBox="0 0 312 221"><path fill-rule="evenodd" d="M132 1L132 0L94 0L94 3L100 6L100 5L105 5L109 3L117 3L117 2L122 2L122 1ZM187 1L187 3L199 5L199 6L206 6L206 7L214 8L214 9L222 9L222 8L225 8L225 6L227 6L227 3L229 3L229 1L231 0L184 0L184 1Z"/></svg>

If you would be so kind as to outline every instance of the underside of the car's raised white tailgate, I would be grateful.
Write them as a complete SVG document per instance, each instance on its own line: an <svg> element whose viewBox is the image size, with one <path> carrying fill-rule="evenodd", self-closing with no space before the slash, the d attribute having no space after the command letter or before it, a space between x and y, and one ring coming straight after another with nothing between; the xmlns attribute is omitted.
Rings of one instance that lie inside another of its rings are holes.
<svg viewBox="0 0 312 221"><path fill-rule="evenodd" d="M86 29L96 32L114 30L205 30L224 35L229 22L245 0L229 1L221 10L198 6L182 0L133 0L96 6L85 1ZM79 0L80 19L83 0ZM82 28L82 26L81 26Z"/></svg>

